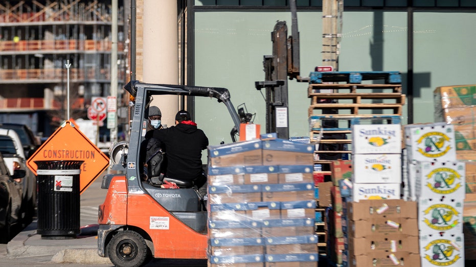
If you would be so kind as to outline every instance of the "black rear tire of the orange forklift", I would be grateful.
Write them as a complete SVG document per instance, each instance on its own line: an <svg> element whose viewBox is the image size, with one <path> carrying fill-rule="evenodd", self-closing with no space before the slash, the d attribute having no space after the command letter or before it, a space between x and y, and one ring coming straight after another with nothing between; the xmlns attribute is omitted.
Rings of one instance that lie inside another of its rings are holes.
<svg viewBox="0 0 476 267"><path fill-rule="evenodd" d="M144 238L134 231L114 235L109 242L108 253L116 267L140 267L152 258Z"/></svg>

